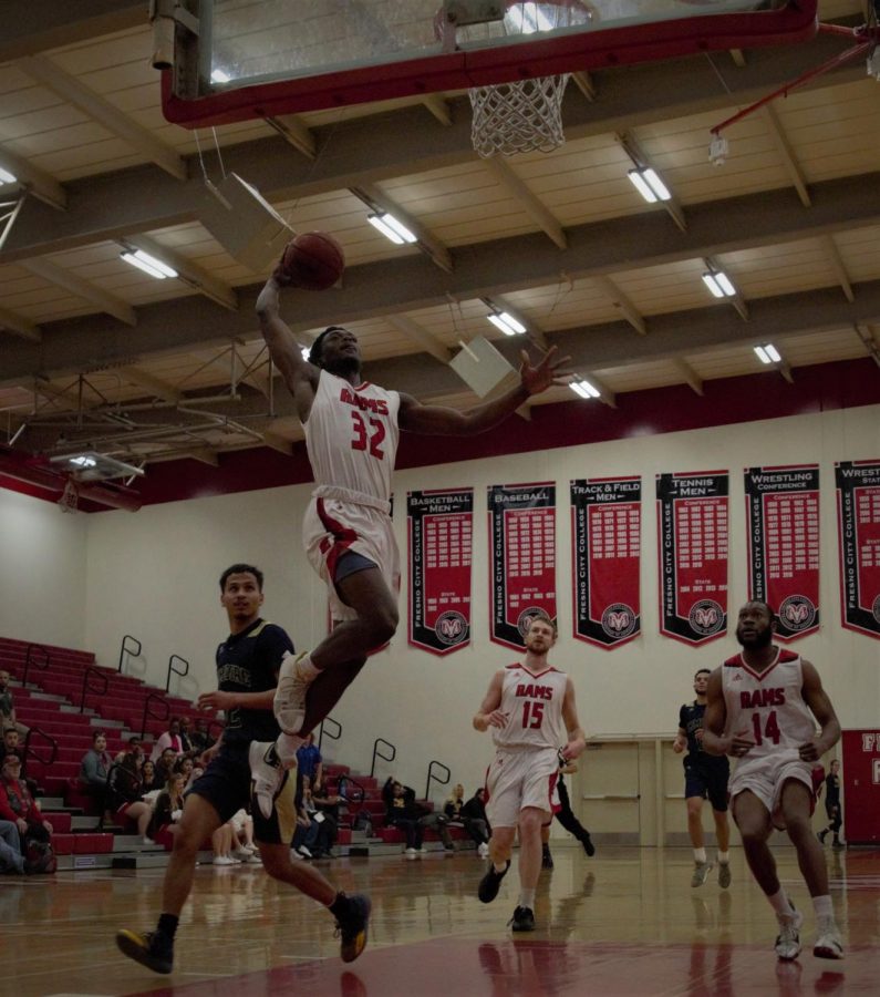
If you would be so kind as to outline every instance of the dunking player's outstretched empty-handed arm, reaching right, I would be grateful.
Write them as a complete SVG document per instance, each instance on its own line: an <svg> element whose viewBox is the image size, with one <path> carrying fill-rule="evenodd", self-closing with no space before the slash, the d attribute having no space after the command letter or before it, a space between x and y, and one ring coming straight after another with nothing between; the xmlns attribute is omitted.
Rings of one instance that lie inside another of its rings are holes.
<svg viewBox="0 0 880 997"><path fill-rule="evenodd" d="M532 394L540 394L552 384L568 383L559 371L569 358L557 358L557 348L550 349L532 366L529 354L522 350L519 366L519 383L505 394L459 412L444 405L423 405L408 394L401 394L400 426L413 433L438 436L464 436L483 433L504 422Z"/></svg>

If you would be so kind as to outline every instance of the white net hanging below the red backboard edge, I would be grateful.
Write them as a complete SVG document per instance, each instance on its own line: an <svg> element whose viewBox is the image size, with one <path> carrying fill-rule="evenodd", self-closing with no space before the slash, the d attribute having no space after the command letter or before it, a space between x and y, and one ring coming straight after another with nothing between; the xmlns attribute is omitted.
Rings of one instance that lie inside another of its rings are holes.
<svg viewBox="0 0 880 997"><path fill-rule="evenodd" d="M468 90L474 112L470 137L476 152L485 160L498 153L552 152L562 145L562 95L569 75Z"/></svg>

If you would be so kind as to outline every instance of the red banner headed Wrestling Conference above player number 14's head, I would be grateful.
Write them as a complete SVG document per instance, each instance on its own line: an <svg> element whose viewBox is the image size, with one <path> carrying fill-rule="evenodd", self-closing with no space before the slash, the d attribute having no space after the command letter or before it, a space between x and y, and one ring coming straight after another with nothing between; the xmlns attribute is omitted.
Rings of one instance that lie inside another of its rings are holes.
<svg viewBox="0 0 880 997"><path fill-rule="evenodd" d="M748 596L776 610L776 636L819 629L819 465L746 467Z"/></svg>

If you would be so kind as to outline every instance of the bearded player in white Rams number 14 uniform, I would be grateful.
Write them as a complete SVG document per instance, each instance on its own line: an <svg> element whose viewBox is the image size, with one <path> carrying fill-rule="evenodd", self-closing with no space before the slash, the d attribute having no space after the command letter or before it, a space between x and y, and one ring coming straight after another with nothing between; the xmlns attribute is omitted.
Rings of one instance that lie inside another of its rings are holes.
<svg viewBox="0 0 880 997"><path fill-rule="evenodd" d="M746 861L779 922L776 955L800 953L803 914L795 909L776 874L768 840L785 830L812 897L817 938L812 954L843 957L828 892L828 870L812 833L812 769L840 739L840 723L816 668L773 643L775 614L766 604L739 610L736 639L742 651L712 672L706 689L703 748L738 759L731 779L733 816L743 835ZM821 728L816 734L816 723Z"/></svg>

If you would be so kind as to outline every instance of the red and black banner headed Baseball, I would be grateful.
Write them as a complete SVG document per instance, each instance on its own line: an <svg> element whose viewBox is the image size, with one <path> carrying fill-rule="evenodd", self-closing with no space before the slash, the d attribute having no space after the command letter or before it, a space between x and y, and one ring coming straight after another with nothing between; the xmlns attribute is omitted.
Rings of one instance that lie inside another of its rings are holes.
<svg viewBox="0 0 880 997"><path fill-rule="evenodd" d="M556 619L556 485L490 485L491 633L521 650L536 609Z"/></svg>

